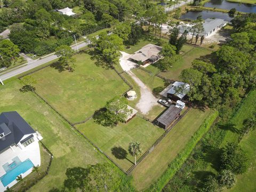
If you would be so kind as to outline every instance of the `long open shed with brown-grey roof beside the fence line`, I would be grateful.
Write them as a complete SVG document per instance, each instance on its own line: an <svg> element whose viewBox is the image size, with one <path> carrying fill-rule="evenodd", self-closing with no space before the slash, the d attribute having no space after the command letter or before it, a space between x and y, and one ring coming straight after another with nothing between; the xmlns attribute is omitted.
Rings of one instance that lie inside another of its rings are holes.
<svg viewBox="0 0 256 192"><path fill-rule="evenodd" d="M182 109L171 105L160 117L156 119L155 124L167 130L173 121L180 116Z"/></svg>

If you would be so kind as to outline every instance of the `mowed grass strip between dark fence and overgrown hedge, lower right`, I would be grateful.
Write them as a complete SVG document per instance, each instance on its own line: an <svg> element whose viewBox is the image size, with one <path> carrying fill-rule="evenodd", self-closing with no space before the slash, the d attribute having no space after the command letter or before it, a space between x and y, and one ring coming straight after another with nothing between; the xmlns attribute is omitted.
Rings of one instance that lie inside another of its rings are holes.
<svg viewBox="0 0 256 192"><path fill-rule="evenodd" d="M132 171L137 190L148 188L167 169L168 164L186 146L191 136L212 113L210 110L190 109L155 149Z"/></svg>

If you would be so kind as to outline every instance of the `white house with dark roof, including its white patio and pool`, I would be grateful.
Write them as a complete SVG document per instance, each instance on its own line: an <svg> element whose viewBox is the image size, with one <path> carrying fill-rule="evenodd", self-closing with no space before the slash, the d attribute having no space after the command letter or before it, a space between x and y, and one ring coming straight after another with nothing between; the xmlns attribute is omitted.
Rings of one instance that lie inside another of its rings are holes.
<svg viewBox="0 0 256 192"><path fill-rule="evenodd" d="M17 176L24 178L33 166L41 165L41 139L17 111L0 114L0 191L15 185Z"/></svg>

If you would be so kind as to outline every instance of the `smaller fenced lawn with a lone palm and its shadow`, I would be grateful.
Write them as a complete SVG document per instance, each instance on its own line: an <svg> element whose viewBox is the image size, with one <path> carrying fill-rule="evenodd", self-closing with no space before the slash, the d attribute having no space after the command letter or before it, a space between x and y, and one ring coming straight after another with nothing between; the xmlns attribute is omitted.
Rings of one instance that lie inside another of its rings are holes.
<svg viewBox="0 0 256 192"><path fill-rule="evenodd" d="M76 125L76 127L125 171L134 162L134 158L128 152L130 142L141 142L141 155L143 155L164 133L163 129L140 117L135 117L130 122L118 124L113 128L101 126L95 123L93 119L84 124Z"/></svg>

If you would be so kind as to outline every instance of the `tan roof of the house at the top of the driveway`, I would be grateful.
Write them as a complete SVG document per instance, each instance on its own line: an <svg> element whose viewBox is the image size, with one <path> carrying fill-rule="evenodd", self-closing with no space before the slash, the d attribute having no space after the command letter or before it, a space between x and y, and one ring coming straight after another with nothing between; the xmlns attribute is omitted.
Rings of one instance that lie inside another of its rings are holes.
<svg viewBox="0 0 256 192"><path fill-rule="evenodd" d="M146 61L148 59L154 59L157 57L159 52L162 51L161 46L153 45L153 44L147 44L143 46L140 50L136 51L134 54L131 55L131 59L135 61Z"/></svg>

